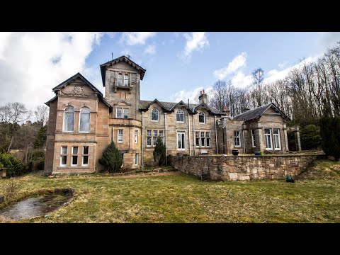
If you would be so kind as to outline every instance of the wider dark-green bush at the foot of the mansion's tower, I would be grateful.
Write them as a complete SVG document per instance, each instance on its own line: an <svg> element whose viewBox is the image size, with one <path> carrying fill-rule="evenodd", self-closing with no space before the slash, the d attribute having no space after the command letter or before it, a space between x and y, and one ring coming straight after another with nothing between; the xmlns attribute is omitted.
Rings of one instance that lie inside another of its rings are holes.
<svg viewBox="0 0 340 255"><path fill-rule="evenodd" d="M113 172L121 169L123 164L122 153L111 142L103 151L103 156L98 160L99 164L105 166L106 171Z"/></svg>

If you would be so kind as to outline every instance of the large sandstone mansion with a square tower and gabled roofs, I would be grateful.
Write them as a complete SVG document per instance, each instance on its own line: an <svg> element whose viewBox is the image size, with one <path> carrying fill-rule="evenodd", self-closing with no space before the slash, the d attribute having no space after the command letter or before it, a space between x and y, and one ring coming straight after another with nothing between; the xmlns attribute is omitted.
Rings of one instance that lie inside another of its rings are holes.
<svg viewBox="0 0 340 255"><path fill-rule="evenodd" d="M142 101L144 68L125 56L100 67L105 96L79 73L52 89L45 172L102 171L98 159L111 141L124 167L152 165L158 136L168 155L222 154L223 145L227 154L288 150L289 118L273 103L232 117L208 106L204 91L198 104Z"/></svg>

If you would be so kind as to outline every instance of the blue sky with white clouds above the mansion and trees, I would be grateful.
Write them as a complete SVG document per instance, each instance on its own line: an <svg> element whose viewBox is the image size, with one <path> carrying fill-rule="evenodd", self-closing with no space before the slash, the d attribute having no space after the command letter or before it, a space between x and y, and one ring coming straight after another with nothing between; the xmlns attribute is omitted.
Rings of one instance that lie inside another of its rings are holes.
<svg viewBox="0 0 340 255"><path fill-rule="evenodd" d="M0 106L18 101L34 110L77 72L104 94L99 65L112 54L147 70L142 100L194 103L218 79L251 84L259 67L265 81L283 78L339 40L339 32L0 32Z"/></svg>

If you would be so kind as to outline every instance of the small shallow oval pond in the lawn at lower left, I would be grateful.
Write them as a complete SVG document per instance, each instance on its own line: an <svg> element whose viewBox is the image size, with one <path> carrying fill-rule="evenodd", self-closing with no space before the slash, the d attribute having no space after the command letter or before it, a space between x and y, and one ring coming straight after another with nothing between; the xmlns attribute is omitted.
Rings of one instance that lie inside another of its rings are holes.
<svg viewBox="0 0 340 255"><path fill-rule="evenodd" d="M12 203L0 211L0 216L11 220L24 220L38 215L45 215L67 202L71 196L49 194L25 198Z"/></svg>

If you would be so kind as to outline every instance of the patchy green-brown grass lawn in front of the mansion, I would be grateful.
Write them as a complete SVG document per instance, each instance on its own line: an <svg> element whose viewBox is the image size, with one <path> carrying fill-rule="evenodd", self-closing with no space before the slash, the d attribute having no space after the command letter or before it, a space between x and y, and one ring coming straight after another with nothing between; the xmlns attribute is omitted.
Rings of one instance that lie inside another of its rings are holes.
<svg viewBox="0 0 340 255"><path fill-rule="evenodd" d="M327 161L316 165L331 167ZM286 183L200 181L179 173L134 178L94 174L52 179L29 174L15 181L21 193L42 188L76 191L76 198L50 213L50 217L21 222L340 222L338 177ZM0 188L6 181L0 180Z"/></svg>

